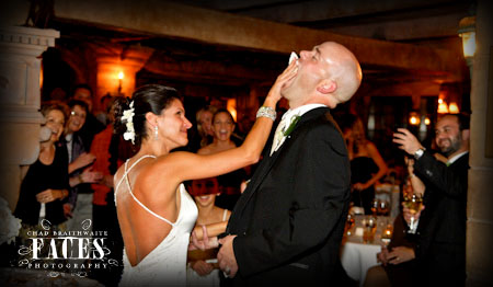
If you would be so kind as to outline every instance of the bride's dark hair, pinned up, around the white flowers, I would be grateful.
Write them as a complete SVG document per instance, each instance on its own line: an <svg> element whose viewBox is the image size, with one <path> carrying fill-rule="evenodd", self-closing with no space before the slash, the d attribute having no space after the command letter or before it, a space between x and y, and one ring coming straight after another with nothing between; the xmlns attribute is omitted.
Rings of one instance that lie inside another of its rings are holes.
<svg viewBox="0 0 493 287"><path fill-rule="evenodd" d="M127 120L122 119L122 116L124 111L129 110L130 103L134 102L135 145L139 146L141 140L148 137L146 114L150 112L160 115L162 110L167 108L174 99L180 101L176 90L162 84L146 84L137 89L131 99L117 99L113 104L114 133L122 135L127 131Z"/></svg>

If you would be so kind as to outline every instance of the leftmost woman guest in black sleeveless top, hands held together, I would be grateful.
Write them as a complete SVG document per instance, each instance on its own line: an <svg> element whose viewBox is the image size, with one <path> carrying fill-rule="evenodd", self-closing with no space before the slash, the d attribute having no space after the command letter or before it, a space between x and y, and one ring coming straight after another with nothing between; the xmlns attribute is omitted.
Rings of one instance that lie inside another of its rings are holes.
<svg viewBox="0 0 493 287"><path fill-rule="evenodd" d="M42 105L45 126L50 136L39 144L37 160L30 165L21 184L14 216L22 220L21 241L30 241L28 231L43 230L42 219L49 221L53 230L66 230L64 199L69 192L67 149L58 145L67 119L67 106L58 102Z"/></svg>

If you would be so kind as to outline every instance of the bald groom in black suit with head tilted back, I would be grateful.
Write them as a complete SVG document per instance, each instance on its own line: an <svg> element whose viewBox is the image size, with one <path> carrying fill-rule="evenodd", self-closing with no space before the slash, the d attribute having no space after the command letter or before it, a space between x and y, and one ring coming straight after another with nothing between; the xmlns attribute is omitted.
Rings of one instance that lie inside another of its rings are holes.
<svg viewBox="0 0 493 287"><path fill-rule="evenodd" d="M348 101L360 81L358 61L337 43L300 53L296 77L282 88L290 108L220 240L219 266L234 286L334 280L351 172L329 108Z"/></svg>

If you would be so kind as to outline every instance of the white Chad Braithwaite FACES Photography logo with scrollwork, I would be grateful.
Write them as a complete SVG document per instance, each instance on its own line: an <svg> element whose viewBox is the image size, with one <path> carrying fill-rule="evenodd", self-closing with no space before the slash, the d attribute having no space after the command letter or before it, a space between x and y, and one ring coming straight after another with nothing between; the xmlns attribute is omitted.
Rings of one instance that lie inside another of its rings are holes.
<svg viewBox="0 0 493 287"><path fill-rule="evenodd" d="M92 221L85 219L78 231L54 230L51 223L43 219L41 229L27 232L28 244L18 250L21 259L18 266L27 269L47 271L48 276L70 273L88 276L91 269L118 266L118 262L107 259L107 231L91 231Z"/></svg>

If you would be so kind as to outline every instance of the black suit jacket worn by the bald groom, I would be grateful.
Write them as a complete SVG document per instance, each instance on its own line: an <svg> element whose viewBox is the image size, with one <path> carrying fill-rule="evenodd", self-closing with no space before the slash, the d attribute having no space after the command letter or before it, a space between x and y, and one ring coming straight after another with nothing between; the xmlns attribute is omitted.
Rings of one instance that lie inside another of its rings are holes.
<svg viewBox="0 0 493 287"><path fill-rule="evenodd" d="M301 116L283 146L264 159L238 200L227 232L238 286L326 285L349 203L351 168L330 110ZM308 284L308 285L307 285Z"/></svg>

